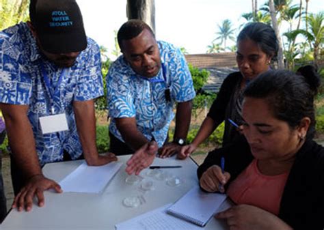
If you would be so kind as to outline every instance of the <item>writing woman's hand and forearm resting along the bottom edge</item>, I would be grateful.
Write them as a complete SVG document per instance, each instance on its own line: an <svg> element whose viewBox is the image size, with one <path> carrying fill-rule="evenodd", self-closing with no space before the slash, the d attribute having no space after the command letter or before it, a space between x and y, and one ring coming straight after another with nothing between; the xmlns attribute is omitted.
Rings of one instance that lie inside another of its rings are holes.
<svg viewBox="0 0 324 230"><path fill-rule="evenodd" d="M236 205L215 215L226 219L230 230L288 230L292 229L283 220L252 205Z"/></svg>

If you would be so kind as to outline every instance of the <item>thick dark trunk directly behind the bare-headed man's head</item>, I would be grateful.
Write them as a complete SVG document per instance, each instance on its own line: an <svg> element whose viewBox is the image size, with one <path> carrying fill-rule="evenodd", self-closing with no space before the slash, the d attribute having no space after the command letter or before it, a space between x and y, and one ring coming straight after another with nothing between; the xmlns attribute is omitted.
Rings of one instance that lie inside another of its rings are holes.
<svg viewBox="0 0 324 230"><path fill-rule="evenodd" d="M154 0L127 0L126 9L127 18L129 18L129 20L143 20L155 33Z"/></svg>

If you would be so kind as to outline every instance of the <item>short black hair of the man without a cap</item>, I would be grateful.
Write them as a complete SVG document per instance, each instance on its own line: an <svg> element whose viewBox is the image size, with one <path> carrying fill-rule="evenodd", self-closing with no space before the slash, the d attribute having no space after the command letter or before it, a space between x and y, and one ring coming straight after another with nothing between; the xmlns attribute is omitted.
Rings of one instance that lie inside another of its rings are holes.
<svg viewBox="0 0 324 230"><path fill-rule="evenodd" d="M120 27L120 29L118 30L118 33L117 33L117 40L118 40L120 50L123 50L122 41L131 40L132 38L136 38L137 35L139 35L139 33L141 33L141 31L144 31L144 29L147 29L148 31L150 31L150 33L155 38L155 35L154 35L154 32L152 31L152 29L146 23L144 23L144 21L142 21L142 20L131 19L131 20L128 20L126 23L124 23L122 25L122 27Z"/></svg>

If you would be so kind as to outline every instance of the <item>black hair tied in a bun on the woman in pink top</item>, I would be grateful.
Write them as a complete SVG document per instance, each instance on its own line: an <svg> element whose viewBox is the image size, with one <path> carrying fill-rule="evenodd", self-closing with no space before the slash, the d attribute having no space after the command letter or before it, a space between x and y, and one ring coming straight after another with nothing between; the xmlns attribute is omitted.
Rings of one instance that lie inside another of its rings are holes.
<svg viewBox="0 0 324 230"><path fill-rule="evenodd" d="M267 100L273 115L292 129L303 117L309 117L306 138L315 133L314 96L321 85L319 74L298 75L288 70L268 70L247 85L244 96Z"/></svg>

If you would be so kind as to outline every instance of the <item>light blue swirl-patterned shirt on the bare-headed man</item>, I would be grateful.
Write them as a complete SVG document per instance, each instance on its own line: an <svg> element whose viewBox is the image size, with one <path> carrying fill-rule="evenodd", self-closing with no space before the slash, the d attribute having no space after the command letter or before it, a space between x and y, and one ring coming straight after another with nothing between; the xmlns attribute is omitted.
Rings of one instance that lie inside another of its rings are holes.
<svg viewBox="0 0 324 230"><path fill-rule="evenodd" d="M185 56L167 42L157 42L161 70L157 76L146 78L135 73L120 56L107 74L107 104L111 124L109 131L123 141L114 118L136 117L139 132L157 141L159 147L167 138L174 118L174 103L187 102L195 97L193 81ZM165 98L165 89L170 98Z"/></svg>

